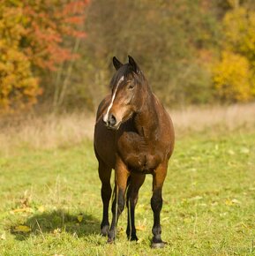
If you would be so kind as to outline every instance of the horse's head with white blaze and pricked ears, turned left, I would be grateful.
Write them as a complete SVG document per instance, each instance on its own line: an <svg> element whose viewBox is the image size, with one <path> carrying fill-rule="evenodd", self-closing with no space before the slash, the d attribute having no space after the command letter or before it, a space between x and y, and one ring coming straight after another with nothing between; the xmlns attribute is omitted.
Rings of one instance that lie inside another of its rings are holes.
<svg viewBox="0 0 255 256"><path fill-rule="evenodd" d="M103 121L109 128L117 130L139 110L143 96L141 85L145 79L131 56L128 64L122 64L114 56L113 64L116 73L110 82L112 94Z"/></svg>

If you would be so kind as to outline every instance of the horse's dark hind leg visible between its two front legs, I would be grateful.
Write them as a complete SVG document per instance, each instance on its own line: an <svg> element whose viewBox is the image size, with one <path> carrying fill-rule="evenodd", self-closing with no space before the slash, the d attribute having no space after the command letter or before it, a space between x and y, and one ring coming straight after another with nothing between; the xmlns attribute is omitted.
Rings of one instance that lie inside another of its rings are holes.
<svg viewBox="0 0 255 256"><path fill-rule="evenodd" d="M137 241L135 227L135 207L139 199L139 188L144 183L146 176L142 174L131 174L130 184L127 191L128 222L126 234L131 241Z"/></svg>

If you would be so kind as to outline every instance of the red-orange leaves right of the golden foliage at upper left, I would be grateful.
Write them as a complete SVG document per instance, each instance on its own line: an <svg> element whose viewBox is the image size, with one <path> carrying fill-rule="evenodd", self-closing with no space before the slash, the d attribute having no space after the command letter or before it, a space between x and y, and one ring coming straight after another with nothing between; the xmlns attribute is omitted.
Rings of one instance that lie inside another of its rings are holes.
<svg viewBox="0 0 255 256"><path fill-rule="evenodd" d="M86 35L79 26L84 23L87 1L24 2L26 54L33 65L54 71L57 64L73 57L70 49L63 46L64 36L84 38Z"/></svg>

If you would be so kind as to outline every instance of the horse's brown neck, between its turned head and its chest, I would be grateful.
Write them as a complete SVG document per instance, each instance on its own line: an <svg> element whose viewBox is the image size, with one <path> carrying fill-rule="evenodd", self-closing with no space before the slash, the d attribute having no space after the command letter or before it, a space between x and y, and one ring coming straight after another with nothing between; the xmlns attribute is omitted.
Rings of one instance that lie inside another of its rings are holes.
<svg viewBox="0 0 255 256"><path fill-rule="evenodd" d="M154 94L147 97L146 102L135 117L135 126L139 135L145 139L154 139L158 125L158 114L155 109Z"/></svg>

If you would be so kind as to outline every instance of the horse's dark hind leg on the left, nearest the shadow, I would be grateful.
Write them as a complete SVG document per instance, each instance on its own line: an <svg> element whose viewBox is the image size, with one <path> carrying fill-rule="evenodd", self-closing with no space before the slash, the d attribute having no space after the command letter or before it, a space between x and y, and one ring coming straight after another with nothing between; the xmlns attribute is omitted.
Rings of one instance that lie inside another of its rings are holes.
<svg viewBox="0 0 255 256"><path fill-rule="evenodd" d="M111 169L106 164L99 161L98 173L101 179L101 200L103 204L101 235L107 236L109 231L109 200L111 197L111 186L110 186Z"/></svg>

